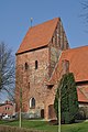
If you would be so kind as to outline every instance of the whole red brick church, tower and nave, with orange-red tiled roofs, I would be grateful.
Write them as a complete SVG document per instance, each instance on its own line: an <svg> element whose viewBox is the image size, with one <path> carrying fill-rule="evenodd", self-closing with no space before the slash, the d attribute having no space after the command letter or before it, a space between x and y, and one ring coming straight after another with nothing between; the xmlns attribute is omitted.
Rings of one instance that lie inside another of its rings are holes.
<svg viewBox="0 0 88 132"><path fill-rule="evenodd" d="M88 118L88 46L70 48L61 18L31 26L15 53L16 112L54 119L57 81L73 73L79 108Z"/></svg>

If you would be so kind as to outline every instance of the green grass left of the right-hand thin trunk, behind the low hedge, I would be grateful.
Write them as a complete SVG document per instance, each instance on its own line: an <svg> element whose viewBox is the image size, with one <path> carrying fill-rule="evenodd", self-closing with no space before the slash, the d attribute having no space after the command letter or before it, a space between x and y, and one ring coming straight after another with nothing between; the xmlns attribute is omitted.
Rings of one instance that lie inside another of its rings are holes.
<svg viewBox="0 0 88 132"><path fill-rule="evenodd" d="M0 121L0 124L3 125L11 125L11 127L19 127L19 121ZM57 125L50 125L46 121L40 121L40 120L23 120L22 121L22 128L28 129L34 129L34 130L42 130L47 132L57 132Z"/></svg>

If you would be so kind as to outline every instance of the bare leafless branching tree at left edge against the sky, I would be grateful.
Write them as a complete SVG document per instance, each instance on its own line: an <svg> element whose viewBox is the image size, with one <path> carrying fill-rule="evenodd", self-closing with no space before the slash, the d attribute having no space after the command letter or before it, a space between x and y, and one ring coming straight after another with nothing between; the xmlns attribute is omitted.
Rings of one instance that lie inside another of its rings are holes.
<svg viewBox="0 0 88 132"><path fill-rule="evenodd" d="M0 43L0 92L7 91L9 96L14 88L14 57L12 51L4 43Z"/></svg>

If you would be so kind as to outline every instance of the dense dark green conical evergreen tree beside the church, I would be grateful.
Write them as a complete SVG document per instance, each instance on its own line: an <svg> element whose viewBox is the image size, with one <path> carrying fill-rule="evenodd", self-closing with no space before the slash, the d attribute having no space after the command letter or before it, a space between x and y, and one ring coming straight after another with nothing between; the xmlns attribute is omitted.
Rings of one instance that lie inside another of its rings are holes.
<svg viewBox="0 0 88 132"><path fill-rule="evenodd" d="M72 73L63 75L55 96L54 108L58 119L58 95L61 89L61 117L64 123L72 123L78 113L77 89Z"/></svg>

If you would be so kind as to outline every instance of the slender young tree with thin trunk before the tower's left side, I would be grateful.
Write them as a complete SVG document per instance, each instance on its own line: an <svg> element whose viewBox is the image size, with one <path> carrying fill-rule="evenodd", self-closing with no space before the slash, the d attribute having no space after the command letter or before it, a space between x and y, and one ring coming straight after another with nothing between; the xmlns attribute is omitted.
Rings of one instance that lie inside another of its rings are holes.
<svg viewBox="0 0 88 132"><path fill-rule="evenodd" d="M28 67L28 66L26 66ZM18 74L19 73L19 74ZM19 112L19 127L22 127L22 111L23 111L23 65L19 64L15 67L15 103Z"/></svg>

